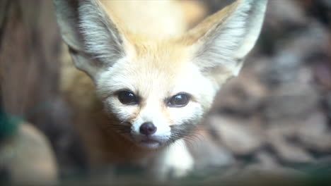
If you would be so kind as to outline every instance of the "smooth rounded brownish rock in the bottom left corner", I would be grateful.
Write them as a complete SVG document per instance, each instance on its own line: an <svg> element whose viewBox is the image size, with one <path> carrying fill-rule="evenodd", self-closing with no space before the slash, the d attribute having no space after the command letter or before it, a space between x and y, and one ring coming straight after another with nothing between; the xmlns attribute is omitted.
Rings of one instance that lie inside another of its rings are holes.
<svg viewBox="0 0 331 186"><path fill-rule="evenodd" d="M14 185L54 185L57 164L50 144L42 133L23 123L13 137L1 144L0 166L5 167Z"/></svg>

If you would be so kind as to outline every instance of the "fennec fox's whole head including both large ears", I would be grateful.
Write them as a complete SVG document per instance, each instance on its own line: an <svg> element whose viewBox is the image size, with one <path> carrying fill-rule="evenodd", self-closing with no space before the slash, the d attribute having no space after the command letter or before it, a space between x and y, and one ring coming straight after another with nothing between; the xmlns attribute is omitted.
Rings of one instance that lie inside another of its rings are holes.
<svg viewBox="0 0 331 186"><path fill-rule="evenodd" d="M260 34L267 0L238 0L165 39L129 32L96 0L54 5L76 68L92 78L105 112L119 121L114 129L155 149L188 135L216 92L238 75Z"/></svg>

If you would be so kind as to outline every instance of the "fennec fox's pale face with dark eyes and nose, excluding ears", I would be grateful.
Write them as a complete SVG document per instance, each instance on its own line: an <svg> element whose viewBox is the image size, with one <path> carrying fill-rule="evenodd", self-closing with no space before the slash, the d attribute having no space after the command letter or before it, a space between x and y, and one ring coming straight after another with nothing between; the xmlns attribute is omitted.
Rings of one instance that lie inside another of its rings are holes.
<svg viewBox="0 0 331 186"><path fill-rule="evenodd" d="M216 83L192 63L190 51L174 46L146 46L144 54L127 55L95 82L105 111L121 123L114 128L142 147L157 148L187 135L216 93Z"/></svg>

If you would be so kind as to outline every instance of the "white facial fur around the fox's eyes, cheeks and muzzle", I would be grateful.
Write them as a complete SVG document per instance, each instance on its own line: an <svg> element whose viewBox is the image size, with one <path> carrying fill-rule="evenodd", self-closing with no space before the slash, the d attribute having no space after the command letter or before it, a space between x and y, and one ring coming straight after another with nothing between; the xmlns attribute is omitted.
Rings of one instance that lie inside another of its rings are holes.
<svg viewBox="0 0 331 186"><path fill-rule="evenodd" d="M152 122L156 126L156 133L151 135L151 139L158 140L160 144L153 144L149 147L155 149L168 142L171 134L170 125L182 125L187 122L191 122L192 125L199 123L203 113L211 106L216 89L214 83L192 63L187 63L186 68L184 68L185 71L178 73L178 77L174 79L175 82L167 80L167 73L164 73L165 76L163 77L161 73L137 72L141 74L141 77L146 76L142 79L149 80L149 83L137 80L136 74L132 73L134 67L129 68L134 63L137 63L137 61L132 58L122 58L112 68L100 73L96 82L98 94L101 99L105 99L105 110L115 113L115 116L124 122L131 119L139 105L127 106L121 104L114 92L120 89L129 89L136 94L141 89L149 89L146 97L141 97L141 101L145 102L144 107L139 111L137 117L130 120L130 122L132 124L132 137L137 144L144 139L144 135L139 132L143 123ZM158 71L157 69L149 70ZM168 81L168 85L173 85L173 87L162 88L165 86L165 81ZM201 87L204 87L203 92ZM186 106L180 108L166 106L164 99L180 92L192 94L195 100L189 101ZM165 112L168 113L168 116Z"/></svg>

